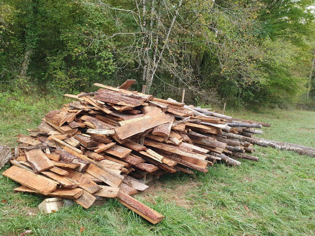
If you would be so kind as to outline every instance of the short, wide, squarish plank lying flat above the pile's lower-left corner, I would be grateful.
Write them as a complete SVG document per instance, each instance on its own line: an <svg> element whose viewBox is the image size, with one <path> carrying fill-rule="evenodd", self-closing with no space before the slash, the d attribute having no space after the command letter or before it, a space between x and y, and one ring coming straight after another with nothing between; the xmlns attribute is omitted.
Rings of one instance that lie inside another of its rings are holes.
<svg viewBox="0 0 315 236"><path fill-rule="evenodd" d="M32 169L38 173L54 167L54 164L40 149L34 149L25 153L25 158Z"/></svg>

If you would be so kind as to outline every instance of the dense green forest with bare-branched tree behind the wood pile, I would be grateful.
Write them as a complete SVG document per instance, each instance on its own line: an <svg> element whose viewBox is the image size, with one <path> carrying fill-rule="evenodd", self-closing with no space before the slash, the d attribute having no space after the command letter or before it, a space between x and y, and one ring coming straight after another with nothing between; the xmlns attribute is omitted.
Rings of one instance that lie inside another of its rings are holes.
<svg viewBox="0 0 315 236"><path fill-rule="evenodd" d="M315 108L314 0L0 0L0 104L95 82L190 104ZM1 110L1 108L0 108Z"/></svg>

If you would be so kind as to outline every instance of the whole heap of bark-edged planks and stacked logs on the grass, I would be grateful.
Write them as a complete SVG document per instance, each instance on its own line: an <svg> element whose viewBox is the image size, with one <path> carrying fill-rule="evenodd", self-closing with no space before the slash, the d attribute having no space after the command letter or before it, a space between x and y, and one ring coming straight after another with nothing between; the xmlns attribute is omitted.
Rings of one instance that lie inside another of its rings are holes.
<svg viewBox="0 0 315 236"><path fill-rule="evenodd" d="M237 120L210 109L127 90L133 80L50 111L29 135L18 135L12 167L2 174L20 183L18 192L73 199L89 208L101 197L117 198L152 223L163 216L131 195L165 173L206 173L216 161L239 166L253 138L269 124ZM238 159L238 160L235 160Z"/></svg>

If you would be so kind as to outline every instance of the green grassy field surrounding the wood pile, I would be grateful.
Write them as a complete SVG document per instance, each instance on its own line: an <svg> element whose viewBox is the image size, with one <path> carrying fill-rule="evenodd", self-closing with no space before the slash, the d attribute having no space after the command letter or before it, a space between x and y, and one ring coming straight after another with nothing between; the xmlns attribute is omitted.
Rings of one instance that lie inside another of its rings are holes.
<svg viewBox="0 0 315 236"><path fill-rule="evenodd" d="M35 128L49 110L66 103L47 96L0 98L0 143L15 145L18 133ZM263 138L315 147L315 112L226 112L270 122ZM315 159L288 151L256 147L259 162L240 167L215 164L207 174L166 175L135 197L165 220L152 225L115 199L79 205L45 215L42 196L15 193L19 186L0 175L0 235L314 235ZM8 165L4 168L8 168ZM3 169L0 171L2 172ZM84 227L82 233L79 233Z"/></svg>

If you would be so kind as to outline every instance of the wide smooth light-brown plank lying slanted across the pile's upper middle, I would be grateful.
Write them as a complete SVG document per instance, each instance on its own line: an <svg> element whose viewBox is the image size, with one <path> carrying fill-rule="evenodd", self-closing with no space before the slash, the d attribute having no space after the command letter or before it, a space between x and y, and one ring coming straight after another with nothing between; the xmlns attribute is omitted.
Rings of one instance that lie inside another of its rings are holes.
<svg viewBox="0 0 315 236"><path fill-rule="evenodd" d="M168 117L164 113L160 113L150 118L133 122L121 127L114 128L115 135L120 139L129 138L135 134L142 133L148 129L151 129L155 126L162 125L169 122Z"/></svg>

